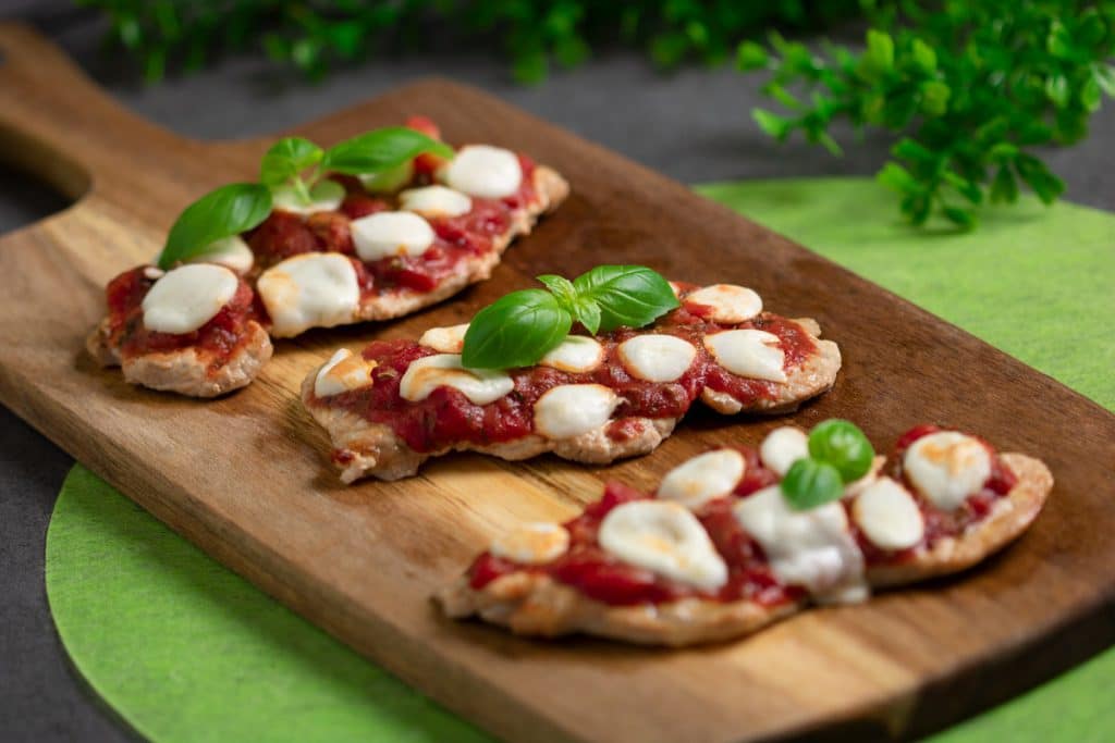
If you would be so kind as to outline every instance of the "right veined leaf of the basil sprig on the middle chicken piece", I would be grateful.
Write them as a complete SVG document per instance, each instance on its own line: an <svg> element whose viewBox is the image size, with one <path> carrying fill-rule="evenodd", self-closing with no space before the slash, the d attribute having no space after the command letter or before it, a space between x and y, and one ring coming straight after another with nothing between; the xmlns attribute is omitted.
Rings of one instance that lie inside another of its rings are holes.
<svg viewBox="0 0 1115 743"><path fill-rule="evenodd" d="M580 299L600 307L600 330L642 327L678 306L669 282L646 266L597 266L573 280Z"/></svg>

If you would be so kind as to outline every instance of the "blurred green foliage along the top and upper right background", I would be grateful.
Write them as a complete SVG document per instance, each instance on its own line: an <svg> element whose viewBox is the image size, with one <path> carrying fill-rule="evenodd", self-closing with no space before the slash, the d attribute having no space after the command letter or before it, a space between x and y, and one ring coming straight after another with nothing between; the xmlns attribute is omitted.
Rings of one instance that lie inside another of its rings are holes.
<svg viewBox="0 0 1115 743"><path fill-rule="evenodd" d="M734 56L768 75L764 91L785 110L755 118L778 140L801 133L838 154L834 121L894 133L879 179L919 225L938 215L970 228L982 204L1014 202L1020 187L1055 201L1064 183L1036 148L1085 137L1115 95L1111 0L77 1L107 14L109 41L152 81L229 51L263 51L317 79L404 49L502 46L529 84L604 47L643 49L661 68ZM862 48L784 36L861 17Z"/></svg>

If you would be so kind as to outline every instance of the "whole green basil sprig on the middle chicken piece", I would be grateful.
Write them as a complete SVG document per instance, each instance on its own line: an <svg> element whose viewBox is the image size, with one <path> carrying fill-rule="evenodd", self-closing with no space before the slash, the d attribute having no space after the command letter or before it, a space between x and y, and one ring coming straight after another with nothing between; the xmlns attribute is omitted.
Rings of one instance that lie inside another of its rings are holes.
<svg viewBox="0 0 1115 743"><path fill-rule="evenodd" d="M549 291L512 292L476 313L465 333L465 366L529 366L561 343L574 321L595 335L642 327L678 306L669 282L646 266L597 266L573 281L537 278Z"/></svg>

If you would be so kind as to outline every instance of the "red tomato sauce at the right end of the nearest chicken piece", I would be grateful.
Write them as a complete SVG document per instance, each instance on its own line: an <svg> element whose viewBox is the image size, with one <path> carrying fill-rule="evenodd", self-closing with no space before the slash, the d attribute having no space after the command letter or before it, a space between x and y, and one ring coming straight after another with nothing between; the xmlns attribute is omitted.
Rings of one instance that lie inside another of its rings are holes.
<svg viewBox="0 0 1115 743"><path fill-rule="evenodd" d="M902 460L906 449L909 449L914 441L929 436L930 433L937 433L943 430L948 429L929 424L917 426L910 429L899 438L886 468L888 473L901 482L905 489L910 491L913 496L914 502L918 504L918 508L921 510L922 519L925 522L925 536L922 542L911 549L888 551L880 549L871 540L860 534L859 530L856 530L856 539L860 547L863 549L864 557L867 559L869 564L902 563L903 560L911 559L914 553L919 549L932 548L932 546L940 539L946 537L959 537L973 524L978 524L986 518L987 515L991 512L996 502L1006 497L1018 482L1018 478L1010 471L1007 463L1002 461L1002 458L999 456L999 452L995 449L995 447L987 441L975 437L979 440L983 448L987 449L987 452L991 458L991 475L983 482L982 487L977 492L969 495L964 502L961 504L956 510L946 511L935 507L929 501L929 499L918 491L918 489L910 481L910 478L905 476L902 467Z"/></svg>

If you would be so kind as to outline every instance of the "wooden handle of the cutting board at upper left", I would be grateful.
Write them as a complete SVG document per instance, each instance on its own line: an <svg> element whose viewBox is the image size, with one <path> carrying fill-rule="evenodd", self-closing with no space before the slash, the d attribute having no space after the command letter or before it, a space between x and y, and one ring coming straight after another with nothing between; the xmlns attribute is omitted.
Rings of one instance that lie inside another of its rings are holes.
<svg viewBox="0 0 1115 743"><path fill-rule="evenodd" d="M137 147L149 147L166 134L100 90L32 28L0 22L4 162L77 199L112 172L107 166L114 158L135 155Z"/></svg>

